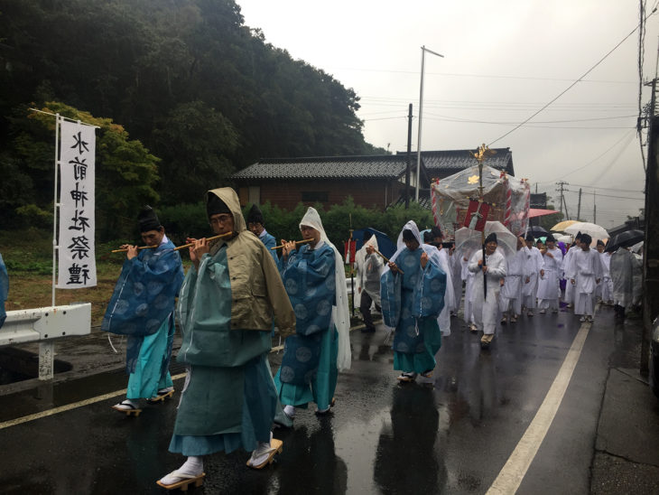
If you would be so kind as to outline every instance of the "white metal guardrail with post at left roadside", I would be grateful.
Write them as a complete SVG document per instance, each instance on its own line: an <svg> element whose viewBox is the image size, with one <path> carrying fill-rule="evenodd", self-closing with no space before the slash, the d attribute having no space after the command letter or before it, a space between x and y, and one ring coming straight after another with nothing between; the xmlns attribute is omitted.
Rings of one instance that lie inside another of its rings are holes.
<svg viewBox="0 0 659 495"><path fill-rule="evenodd" d="M0 346L39 342L39 379L53 375L55 340L91 331L91 304L47 306L7 312Z"/></svg>

